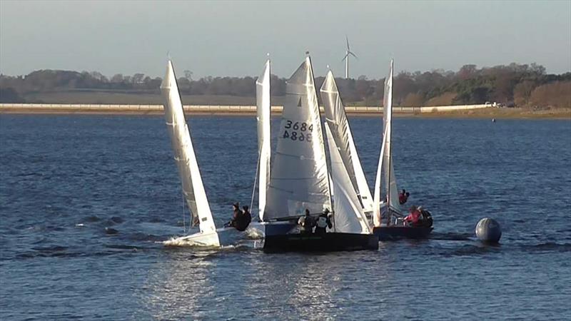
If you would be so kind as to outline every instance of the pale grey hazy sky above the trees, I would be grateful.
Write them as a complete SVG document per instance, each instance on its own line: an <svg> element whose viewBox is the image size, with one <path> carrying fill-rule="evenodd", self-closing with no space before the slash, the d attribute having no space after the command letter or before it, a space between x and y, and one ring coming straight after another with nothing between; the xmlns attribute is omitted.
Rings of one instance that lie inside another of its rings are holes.
<svg viewBox="0 0 571 321"><path fill-rule="evenodd" d="M255 76L266 53L290 76L310 51L315 76L353 77L540 63L571 71L571 0L564 1L9 1L0 0L0 72L38 69L163 76Z"/></svg>

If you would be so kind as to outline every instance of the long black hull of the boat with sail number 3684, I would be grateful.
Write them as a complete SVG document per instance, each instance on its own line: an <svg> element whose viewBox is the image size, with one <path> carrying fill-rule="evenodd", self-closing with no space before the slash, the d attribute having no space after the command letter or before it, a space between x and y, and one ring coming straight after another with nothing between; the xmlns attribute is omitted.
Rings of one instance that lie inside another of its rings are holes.
<svg viewBox="0 0 571 321"><path fill-rule="evenodd" d="M336 252L378 250L376 235L353 233L266 235L263 250L276 252Z"/></svg>

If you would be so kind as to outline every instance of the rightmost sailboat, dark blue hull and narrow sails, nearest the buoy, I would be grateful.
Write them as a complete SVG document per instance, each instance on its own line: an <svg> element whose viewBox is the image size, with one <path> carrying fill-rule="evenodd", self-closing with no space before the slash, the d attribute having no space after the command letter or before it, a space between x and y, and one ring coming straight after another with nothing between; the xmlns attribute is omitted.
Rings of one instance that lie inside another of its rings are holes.
<svg viewBox="0 0 571 321"><path fill-rule="evenodd" d="M375 191L373 198L373 218L375 227L373 233L379 240L396 238L425 238L432 232L432 216L428 210L422 210L423 224L406 225L404 211L398 198L398 187L395 178L392 153L393 136L393 61L390 61L389 76L385 79L385 94L383 98L383 143L380 148ZM385 203L381 202L381 176L384 178ZM384 206L383 206L384 205ZM381 213L383 208L383 213ZM381 217L383 214L385 221Z"/></svg>

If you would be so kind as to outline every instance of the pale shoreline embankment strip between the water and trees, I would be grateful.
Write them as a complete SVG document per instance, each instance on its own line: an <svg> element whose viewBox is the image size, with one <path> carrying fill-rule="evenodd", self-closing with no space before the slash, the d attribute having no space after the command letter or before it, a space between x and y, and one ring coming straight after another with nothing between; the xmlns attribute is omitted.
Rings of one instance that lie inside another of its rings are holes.
<svg viewBox="0 0 571 321"><path fill-rule="evenodd" d="M346 110L348 116L378 117L380 111ZM160 116L163 111L128 110L126 108L6 108L0 107L0 115L108 115L108 116ZM186 115L199 116L256 116L251 110L186 110ZM280 115L281 111L273 110L272 115ZM323 114L323 112L322 112ZM533 111L523 108L480 108L460 111L399 112L393 113L398 118L495 118L495 119L565 119L571 120L571 108L545 109Z"/></svg>

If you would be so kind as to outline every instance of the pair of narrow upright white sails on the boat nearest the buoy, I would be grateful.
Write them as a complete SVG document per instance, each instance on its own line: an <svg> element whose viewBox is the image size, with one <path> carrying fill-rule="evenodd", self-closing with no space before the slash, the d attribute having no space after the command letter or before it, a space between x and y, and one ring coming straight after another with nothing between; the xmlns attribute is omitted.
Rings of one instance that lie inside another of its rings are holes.
<svg viewBox="0 0 571 321"><path fill-rule="evenodd" d="M379 157L379 165L377 168L377 176L375 179L375 202L374 202L374 219L375 225L380 223L380 173L383 171L385 185L385 200L388 201L388 209L400 213L400 204L398 203L398 187L395 178L395 170L393 166L392 154L392 133L393 133L393 61L390 61L389 76L385 79L385 94L383 99L383 143Z"/></svg>

